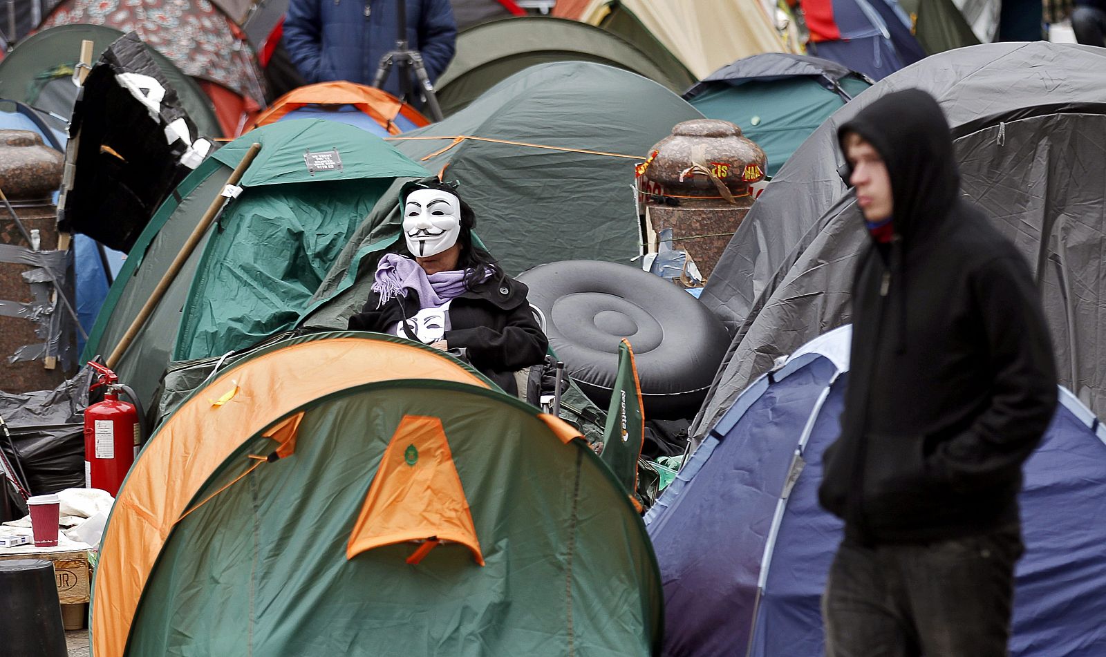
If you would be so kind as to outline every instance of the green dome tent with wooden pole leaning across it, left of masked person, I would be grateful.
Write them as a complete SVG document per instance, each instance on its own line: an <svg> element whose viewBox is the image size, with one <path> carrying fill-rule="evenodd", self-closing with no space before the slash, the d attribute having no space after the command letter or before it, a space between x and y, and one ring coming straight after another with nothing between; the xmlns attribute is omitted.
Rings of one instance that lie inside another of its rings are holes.
<svg viewBox="0 0 1106 657"><path fill-rule="evenodd" d="M82 362L119 344L253 142L261 152L239 182L243 191L205 234L116 367L144 405L170 359L220 355L290 328L393 180L427 175L378 137L334 122L286 121L239 137L189 174L150 219L112 285ZM309 152L336 153L337 165L309 170Z"/></svg>

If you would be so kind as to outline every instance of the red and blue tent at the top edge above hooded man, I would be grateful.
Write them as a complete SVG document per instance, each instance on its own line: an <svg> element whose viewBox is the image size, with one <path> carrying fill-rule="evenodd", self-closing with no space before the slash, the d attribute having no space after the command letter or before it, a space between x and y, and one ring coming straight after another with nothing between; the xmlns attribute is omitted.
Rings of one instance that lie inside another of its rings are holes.
<svg viewBox="0 0 1106 657"><path fill-rule="evenodd" d="M896 0L801 0L807 51L883 80L926 56Z"/></svg>

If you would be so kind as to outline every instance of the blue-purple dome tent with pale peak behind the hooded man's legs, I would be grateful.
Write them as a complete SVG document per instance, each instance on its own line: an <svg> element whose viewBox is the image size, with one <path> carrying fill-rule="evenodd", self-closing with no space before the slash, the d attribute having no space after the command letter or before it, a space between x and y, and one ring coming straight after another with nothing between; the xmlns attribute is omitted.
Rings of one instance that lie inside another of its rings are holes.
<svg viewBox="0 0 1106 657"><path fill-rule="evenodd" d="M665 655L817 657L841 522L817 503L851 330L807 343L733 404L646 515ZM1026 462L1014 657L1106 655L1106 429L1071 393Z"/></svg>

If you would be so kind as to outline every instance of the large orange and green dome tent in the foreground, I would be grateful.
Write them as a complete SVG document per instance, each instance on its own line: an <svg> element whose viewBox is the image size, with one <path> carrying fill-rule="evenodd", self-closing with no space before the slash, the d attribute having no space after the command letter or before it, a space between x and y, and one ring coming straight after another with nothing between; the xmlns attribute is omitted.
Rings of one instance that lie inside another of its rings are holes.
<svg viewBox="0 0 1106 657"><path fill-rule="evenodd" d="M92 654L655 654L645 528L566 423L401 338L322 333L213 375L139 455Z"/></svg>

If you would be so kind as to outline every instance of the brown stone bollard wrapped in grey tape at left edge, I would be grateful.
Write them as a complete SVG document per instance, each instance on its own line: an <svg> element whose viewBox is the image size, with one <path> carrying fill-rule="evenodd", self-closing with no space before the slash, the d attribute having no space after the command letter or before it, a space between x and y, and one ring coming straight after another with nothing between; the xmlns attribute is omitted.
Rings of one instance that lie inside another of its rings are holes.
<svg viewBox="0 0 1106 657"><path fill-rule="evenodd" d="M0 201L0 389L9 393L52 389L75 372L73 260L59 250L52 198L63 163L36 133L0 131L0 191L19 219Z"/></svg>

